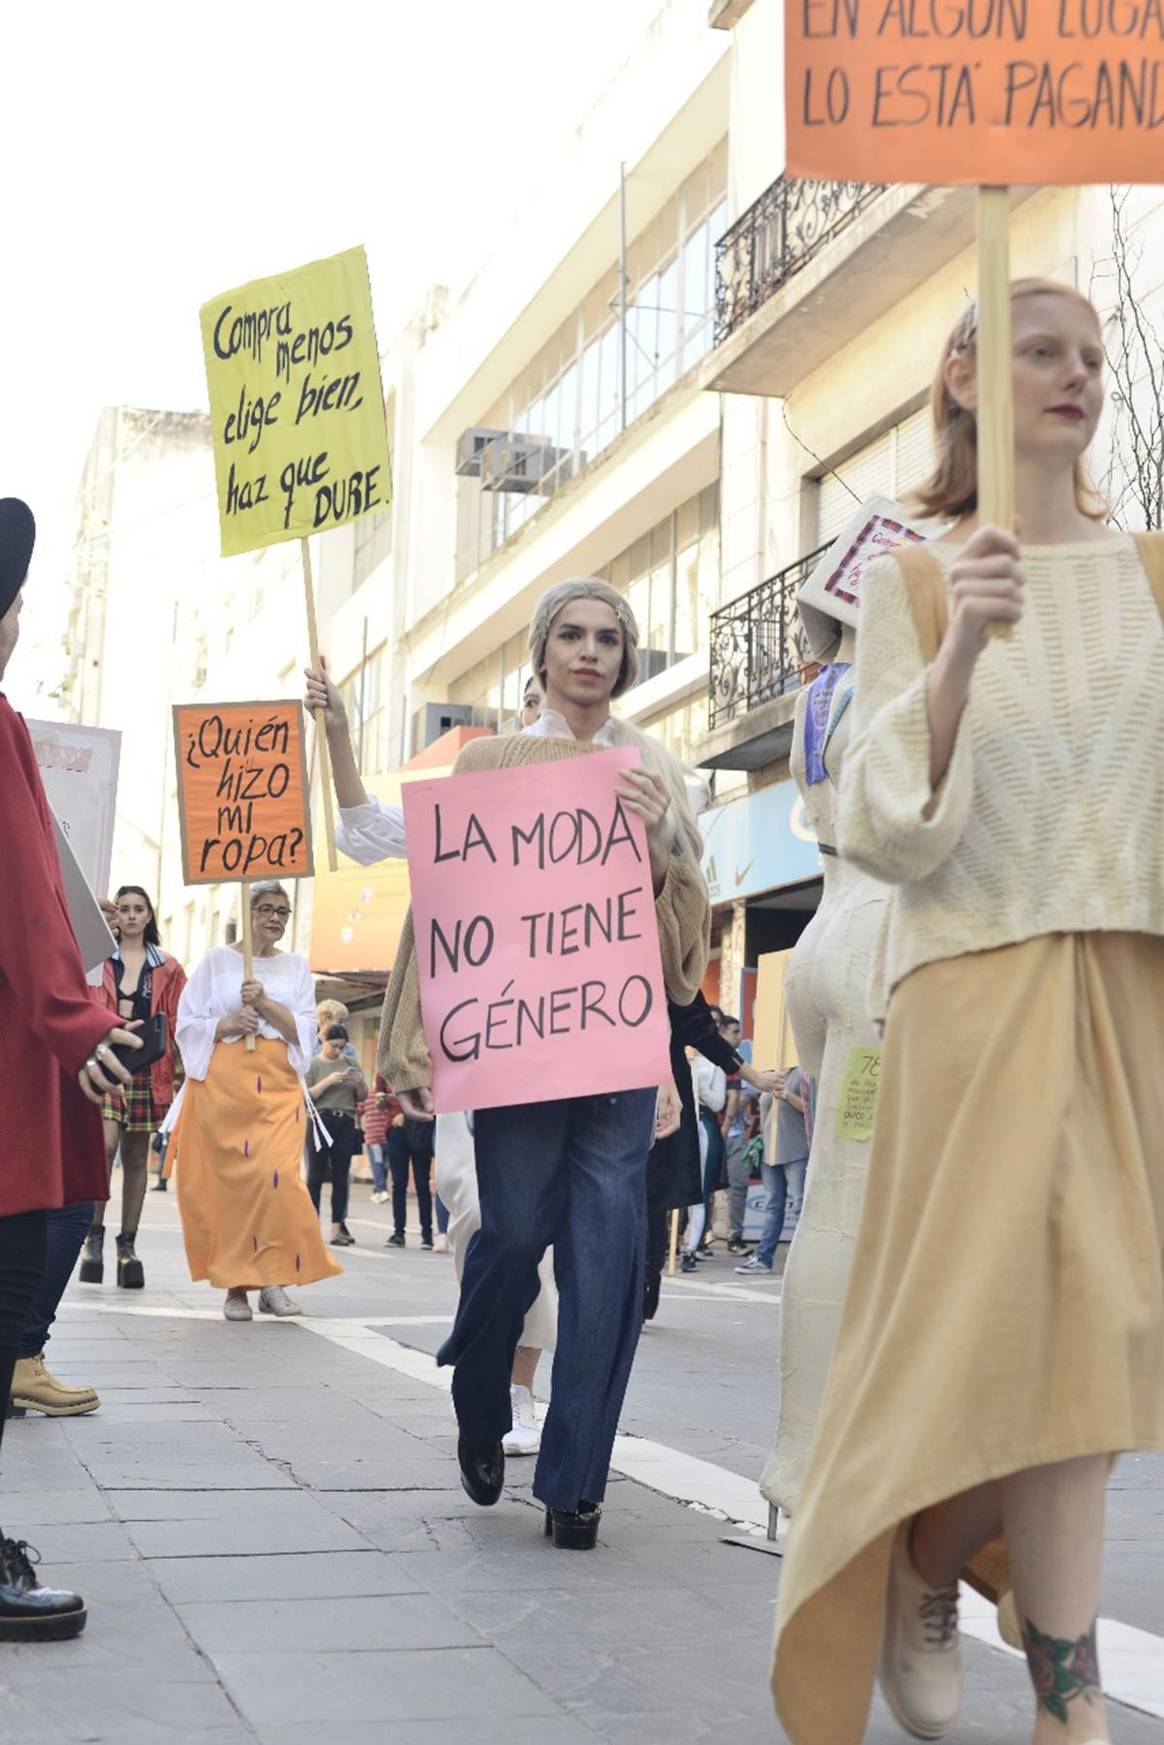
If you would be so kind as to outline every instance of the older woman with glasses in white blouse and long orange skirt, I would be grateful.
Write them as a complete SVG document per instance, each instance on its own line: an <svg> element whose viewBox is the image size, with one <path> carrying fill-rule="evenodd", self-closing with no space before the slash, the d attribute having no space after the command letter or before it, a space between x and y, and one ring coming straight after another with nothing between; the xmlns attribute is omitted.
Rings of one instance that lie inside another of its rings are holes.
<svg viewBox="0 0 1164 1745"><path fill-rule="evenodd" d="M251 1319L253 1290L260 1312L300 1314L284 1286L342 1270L323 1246L300 1174L305 1124L316 1119L304 1089L316 989L307 960L279 951L290 916L281 885L253 885L251 975L241 946L216 946L178 1005L187 1082L169 1157L190 1277L225 1290L227 1321Z"/></svg>

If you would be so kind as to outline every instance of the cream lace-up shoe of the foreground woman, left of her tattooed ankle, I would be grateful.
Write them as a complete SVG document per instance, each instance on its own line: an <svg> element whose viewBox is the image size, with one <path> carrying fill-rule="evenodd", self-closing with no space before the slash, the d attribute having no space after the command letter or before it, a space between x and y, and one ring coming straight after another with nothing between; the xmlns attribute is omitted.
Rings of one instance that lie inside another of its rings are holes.
<svg viewBox="0 0 1164 1745"><path fill-rule="evenodd" d="M918 1740L941 1740L962 1707L958 1584L925 1584L909 1557L911 1525L904 1522L894 1537L881 1637L881 1693L907 1733Z"/></svg>

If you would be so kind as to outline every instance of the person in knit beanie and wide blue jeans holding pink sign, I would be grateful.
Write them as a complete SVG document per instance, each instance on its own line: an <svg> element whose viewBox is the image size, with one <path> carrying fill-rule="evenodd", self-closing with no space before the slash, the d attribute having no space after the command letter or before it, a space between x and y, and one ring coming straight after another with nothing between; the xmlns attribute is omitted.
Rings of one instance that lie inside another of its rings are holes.
<svg viewBox="0 0 1164 1745"><path fill-rule="evenodd" d="M611 717L611 700L637 675L635 618L607 583L564 581L543 595L529 647L544 695L541 719L524 733L471 742L457 773L548 764L555 790L569 794L576 757L613 745L639 749L640 766L620 770L614 792L646 831L663 982L686 1005L707 967L710 906L681 766L658 742ZM401 1105L431 1119L433 1061L412 914L384 1002L380 1066ZM562 1548L588 1550L597 1541L642 1326L656 1096L658 1082L475 1112L482 1227L466 1255L452 1335L438 1352L438 1363L454 1368L461 1478L475 1502L489 1506L501 1495L513 1354L537 1293L537 1263L553 1246L558 1342L534 1495L546 1504L546 1536Z"/></svg>

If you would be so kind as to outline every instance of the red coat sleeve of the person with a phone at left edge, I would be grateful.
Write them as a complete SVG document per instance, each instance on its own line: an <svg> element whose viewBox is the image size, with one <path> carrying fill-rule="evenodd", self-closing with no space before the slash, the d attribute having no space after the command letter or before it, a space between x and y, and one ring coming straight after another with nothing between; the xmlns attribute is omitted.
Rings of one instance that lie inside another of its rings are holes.
<svg viewBox="0 0 1164 1745"><path fill-rule="evenodd" d="M77 1073L117 1019L94 1003L86 981L28 728L3 696L0 815L0 977L30 1033Z"/></svg>

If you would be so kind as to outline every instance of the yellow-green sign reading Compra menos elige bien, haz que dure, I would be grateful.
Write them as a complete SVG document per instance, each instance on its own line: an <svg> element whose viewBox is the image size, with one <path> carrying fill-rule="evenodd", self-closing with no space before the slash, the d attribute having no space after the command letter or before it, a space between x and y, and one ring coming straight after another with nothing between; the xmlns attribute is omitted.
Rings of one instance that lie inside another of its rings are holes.
<svg viewBox="0 0 1164 1745"><path fill-rule="evenodd" d="M202 304L222 555L387 508L380 359L361 248Z"/></svg>

